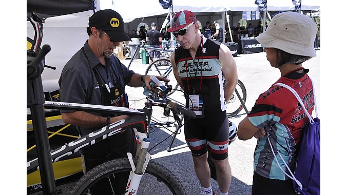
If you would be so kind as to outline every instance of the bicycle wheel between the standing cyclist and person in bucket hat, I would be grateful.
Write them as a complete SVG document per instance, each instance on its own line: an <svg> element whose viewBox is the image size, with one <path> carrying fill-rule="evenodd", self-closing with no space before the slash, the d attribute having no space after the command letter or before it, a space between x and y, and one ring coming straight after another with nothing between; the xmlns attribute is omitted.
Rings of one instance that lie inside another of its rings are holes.
<svg viewBox="0 0 347 195"><path fill-rule="evenodd" d="M243 102L246 103L246 96L247 96L246 88L240 80L237 81L236 89L239 92ZM226 113L227 113L229 118L240 113L241 110L243 109L241 101L238 98L235 91L234 91L232 97L230 97L230 101L228 102L228 104L226 106L227 106Z"/></svg>

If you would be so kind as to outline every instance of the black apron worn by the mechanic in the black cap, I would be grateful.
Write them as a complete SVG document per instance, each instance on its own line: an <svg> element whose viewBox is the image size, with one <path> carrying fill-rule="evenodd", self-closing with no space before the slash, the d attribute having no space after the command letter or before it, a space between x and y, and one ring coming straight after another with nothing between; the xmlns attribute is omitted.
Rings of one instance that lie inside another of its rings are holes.
<svg viewBox="0 0 347 195"><path fill-rule="evenodd" d="M82 52L89 62L89 59L83 48ZM123 87L120 77L118 76L117 72L115 72L112 66L109 70L113 72L113 75L117 78L117 81L113 79L112 83L107 81L108 84L106 84L99 70L96 67L91 68L91 71L97 79L100 88L102 105L129 107L127 94L125 93L125 87ZM102 116L104 117L107 117L108 115L110 114L102 114ZM115 114L111 116L115 116ZM123 133L115 134L111 138L98 142L97 144L89 146L82 150L86 171L89 171L92 168L112 159L127 158L127 152L131 152L134 156L136 153L136 148L136 139L132 129L128 129ZM90 191L92 192L92 194L111 194L109 185L109 182L111 182L115 193L120 194L124 192L128 177L129 172L117 173L117 177L115 177L115 179L111 179L110 181L108 179L104 179L99 183L94 184Z"/></svg>

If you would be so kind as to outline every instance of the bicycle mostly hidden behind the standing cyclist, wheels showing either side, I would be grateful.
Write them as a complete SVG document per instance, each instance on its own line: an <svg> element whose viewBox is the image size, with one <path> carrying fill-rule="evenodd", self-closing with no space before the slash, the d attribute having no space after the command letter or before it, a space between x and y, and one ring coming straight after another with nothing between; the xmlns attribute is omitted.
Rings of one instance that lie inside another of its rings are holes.
<svg viewBox="0 0 347 195"><path fill-rule="evenodd" d="M166 79L169 79L173 90L167 94L168 96L174 93L176 90L180 89L180 86L175 79L175 75L173 75L172 66L169 59L159 59L152 62L147 67L145 74L160 75ZM224 82L226 82L226 80L224 80ZM235 91L230 97L230 100L227 102L226 113L228 115L228 118L236 116L241 112L242 109L245 109L246 113L248 113L248 110L245 106L246 97L246 87L240 80L238 80Z"/></svg>

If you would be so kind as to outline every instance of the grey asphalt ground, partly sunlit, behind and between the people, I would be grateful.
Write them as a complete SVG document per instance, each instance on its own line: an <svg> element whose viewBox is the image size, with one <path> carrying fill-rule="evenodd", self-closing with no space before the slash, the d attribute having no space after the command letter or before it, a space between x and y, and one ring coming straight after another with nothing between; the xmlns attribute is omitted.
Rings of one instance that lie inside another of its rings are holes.
<svg viewBox="0 0 347 195"><path fill-rule="evenodd" d="M259 94L264 92L275 83L280 77L280 71L269 65L266 60L266 53L239 54L234 57L238 79L243 82L247 91L246 107L250 111L255 104ZM130 60L121 60L128 66ZM134 72L144 74L148 64L142 64L142 60L134 60L129 69ZM320 50L317 50L317 57L303 63L303 67L310 69L309 75L314 81L318 112L320 113ZM143 108L145 95L142 94L143 88L126 87L129 103L131 108ZM175 92L171 95L172 99L179 102L184 102L184 96L180 92ZM231 118L232 122L237 126L245 117L246 113L242 110L238 115ZM153 109L153 118L158 121L165 122L167 118L163 118L162 108ZM169 128L175 131L175 128ZM157 143L163 141L171 133L160 128L150 134L150 148ZM172 137L171 137L172 138ZM191 153L184 139L184 128L181 128L181 133L176 136L175 142L172 145L170 152L167 151L171 138L165 140L150 151L152 160L161 163L171 170L181 180L188 194L200 194L201 186L194 172ZM252 138L247 141L236 139L229 145L228 159L232 168L232 183L228 194L247 195L251 193L253 181L253 152L256 146L256 139ZM73 184L60 186L64 191L68 190ZM211 179L211 186L219 194L218 184Z"/></svg>

